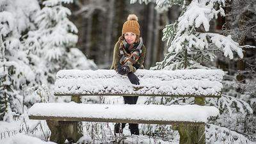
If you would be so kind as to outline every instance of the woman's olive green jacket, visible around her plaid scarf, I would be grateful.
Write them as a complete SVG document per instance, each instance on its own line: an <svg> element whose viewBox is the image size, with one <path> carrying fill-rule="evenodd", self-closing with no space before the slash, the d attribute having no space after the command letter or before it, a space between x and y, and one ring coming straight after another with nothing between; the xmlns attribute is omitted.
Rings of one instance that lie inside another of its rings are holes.
<svg viewBox="0 0 256 144"><path fill-rule="evenodd" d="M116 70L118 67L118 63L120 63L120 50L119 50L119 46L120 46L120 40L118 40L118 42L116 42L115 47L114 47L114 52L113 52L113 62L111 65L110 69L114 69ZM142 53L140 58L138 59L138 63L140 64L140 69L143 69L143 63L144 63L144 58L145 58L145 54L146 54L146 47L145 45L142 45ZM132 65L128 65L130 68L131 72L135 72L136 68L133 67Z"/></svg>

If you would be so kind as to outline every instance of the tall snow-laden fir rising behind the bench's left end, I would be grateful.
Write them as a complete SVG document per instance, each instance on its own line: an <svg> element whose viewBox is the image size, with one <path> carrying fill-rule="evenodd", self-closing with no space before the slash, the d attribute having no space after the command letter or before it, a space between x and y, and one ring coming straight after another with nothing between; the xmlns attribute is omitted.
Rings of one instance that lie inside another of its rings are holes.
<svg viewBox="0 0 256 144"><path fill-rule="evenodd" d="M72 68L68 60L68 52L77 42L77 28L67 16L71 14L63 3L72 3L72 0L44 1L44 8L35 19L35 31L30 31L27 44L35 47L34 53L45 61L45 75L51 84L55 81L58 70Z"/></svg>

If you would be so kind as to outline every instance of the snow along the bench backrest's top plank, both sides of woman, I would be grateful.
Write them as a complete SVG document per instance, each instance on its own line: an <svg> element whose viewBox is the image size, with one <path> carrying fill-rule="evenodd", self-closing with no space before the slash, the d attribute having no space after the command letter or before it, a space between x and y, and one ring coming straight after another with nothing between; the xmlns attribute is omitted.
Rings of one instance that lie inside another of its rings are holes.
<svg viewBox="0 0 256 144"><path fill-rule="evenodd" d="M220 69L194 69L194 70L136 70L136 76L138 77L155 77L162 80L172 79L209 79L210 81L222 81L224 72ZM116 76L115 70L60 70L57 73L57 79L59 78L78 78L78 77L92 77L92 78L108 78Z"/></svg>

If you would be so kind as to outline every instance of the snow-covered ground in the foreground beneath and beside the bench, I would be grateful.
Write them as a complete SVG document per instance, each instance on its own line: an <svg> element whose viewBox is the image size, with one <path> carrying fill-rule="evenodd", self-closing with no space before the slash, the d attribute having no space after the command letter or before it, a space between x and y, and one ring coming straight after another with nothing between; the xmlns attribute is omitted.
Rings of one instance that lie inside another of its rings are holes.
<svg viewBox="0 0 256 144"><path fill-rule="evenodd" d="M3 123L1 123L1 127L3 128ZM173 138L159 138L157 136L146 136L141 134L140 136L132 135L130 134L130 131L128 129L128 124L126 125L124 129L123 134L118 134L117 136L114 136L113 134L113 129L114 129L114 124L113 123L88 123L88 122L83 122L83 127L85 129L90 129L92 127L97 129L97 131L100 132L95 132L95 131L84 131L83 134L84 136L80 138L77 143L97 143L97 144L108 144L108 143L143 143L143 144L178 144L179 143L179 134L177 132L173 133ZM4 124L5 126L11 127L11 125L15 126L15 122L13 124ZM140 124L140 129L142 125ZM153 125L155 126L155 125ZM207 125L211 127L212 125ZM216 133L212 133L213 129L216 131ZM103 130L103 131L102 131ZM255 144L255 142L248 141L247 138L244 136L241 136L237 134L237 132L230 132L227 128L221 128L221 127L211 127L208 129L206 127L206 142L207 144L227 144L227 143L232 143L232 144ZM209 132L211 131L211 132ZM227 136L227 132L230 132L230 136ZM210 134L214 135L214 138L211 138L209 136ZM232 138L234 137L235 140ZM36 138L35 135L31 134L29 136L28 134L24 133L18 133L14 134L13 136L10 136L8 138L4 138L3 140L0 140L1 144L53 144L51 141L44 141L41 140L40 138Z"/></svg>

